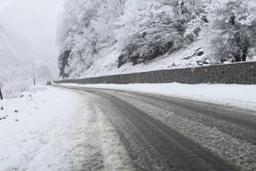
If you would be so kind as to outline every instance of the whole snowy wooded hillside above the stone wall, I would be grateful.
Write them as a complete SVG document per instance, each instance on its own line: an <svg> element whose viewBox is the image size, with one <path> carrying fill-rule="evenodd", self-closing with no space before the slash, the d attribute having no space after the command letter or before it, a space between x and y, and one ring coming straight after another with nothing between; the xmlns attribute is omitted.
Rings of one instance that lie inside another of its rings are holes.
<svg viewBox="0 0 256 171"><path fill-rule="evenodd" d="M255 0L67 0L63 78L255 60Z"/></svg>

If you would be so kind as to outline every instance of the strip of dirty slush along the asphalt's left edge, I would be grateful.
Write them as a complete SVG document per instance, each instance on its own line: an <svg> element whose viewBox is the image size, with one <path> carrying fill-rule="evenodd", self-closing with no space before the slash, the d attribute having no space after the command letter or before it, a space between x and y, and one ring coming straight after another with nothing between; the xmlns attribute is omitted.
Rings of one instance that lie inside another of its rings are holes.
<svg viewBox="0 0 256 171"><path fill-rule="evenodd" d="M120 142L119 136L113 125L109 122L108 117L103 112L103 106L99 104L95 96L88 93L80 93L86 96L91 115L97 117L97 122L100 131L100 144L103 156L103 170L105 171L133 171L134 167L131 164L124 145ZM89 98L90 97L90 98Z"/></svg>

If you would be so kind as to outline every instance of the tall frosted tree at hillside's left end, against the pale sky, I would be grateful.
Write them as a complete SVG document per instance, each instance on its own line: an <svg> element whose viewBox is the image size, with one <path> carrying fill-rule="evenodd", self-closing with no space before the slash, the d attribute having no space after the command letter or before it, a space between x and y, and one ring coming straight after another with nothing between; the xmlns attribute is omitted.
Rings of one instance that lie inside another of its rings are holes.
<svg viewBox="0 0 256 171"><path fill-rule="evenodd" d="M99 3L93 0L67 0L58 26L60 75L69 76L89 68L97 42L91 21L97 18ZM78 75L77 75L78 76Z"/></svg>

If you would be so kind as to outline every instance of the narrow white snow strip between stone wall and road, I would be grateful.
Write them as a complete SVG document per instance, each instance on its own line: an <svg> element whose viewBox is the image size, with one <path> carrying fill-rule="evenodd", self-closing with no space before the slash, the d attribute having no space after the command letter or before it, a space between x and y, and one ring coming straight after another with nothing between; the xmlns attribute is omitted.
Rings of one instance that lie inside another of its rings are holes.
<svg viewBox="0 0 256 171"><path fill-rule="evenodd" d="M238 84L62 84L169 95L196 101L256 110L256 85Z"/></svg>

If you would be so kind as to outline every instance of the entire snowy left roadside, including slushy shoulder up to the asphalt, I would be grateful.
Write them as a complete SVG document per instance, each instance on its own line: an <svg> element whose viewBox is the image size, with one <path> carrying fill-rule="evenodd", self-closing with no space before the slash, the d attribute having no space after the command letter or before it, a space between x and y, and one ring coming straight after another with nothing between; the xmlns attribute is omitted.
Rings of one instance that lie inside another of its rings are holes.
<svg viewBox="0 0 256 171"><path fill-rule="evenodd" d="M0 101L0 170L107 170L119 159L119 169L131 170L124 148L103 128L109 125L89 108L90 99L76 92L39 86L24 97ZM1 107L3 107L1 109ZM111 125L109 125L111 126ZM112 146L113 145L113 146ZM111 149L113 148L113 149Z"/></svg>

